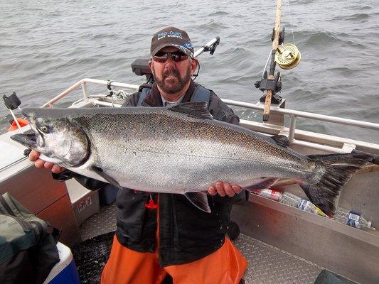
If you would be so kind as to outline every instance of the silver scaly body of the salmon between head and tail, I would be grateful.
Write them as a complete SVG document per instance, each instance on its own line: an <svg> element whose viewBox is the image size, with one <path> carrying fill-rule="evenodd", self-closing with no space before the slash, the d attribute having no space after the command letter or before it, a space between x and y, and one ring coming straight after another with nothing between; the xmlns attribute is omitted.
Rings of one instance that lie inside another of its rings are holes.
<svg viewBox="0 0 379 284"><path fill-rule="evenodd" d="M247 186L255 178L304 178L309 172L303 156L252 131L143 109L79 119L92 141L96 165L123 187L183 193L218 180Z"/></svg>

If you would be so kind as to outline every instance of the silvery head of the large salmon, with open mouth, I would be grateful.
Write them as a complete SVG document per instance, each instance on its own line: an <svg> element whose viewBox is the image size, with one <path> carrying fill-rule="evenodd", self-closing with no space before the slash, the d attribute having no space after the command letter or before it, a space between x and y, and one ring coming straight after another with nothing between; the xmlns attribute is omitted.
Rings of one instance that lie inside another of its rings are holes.
<svg viewBox="0 0 379 284"><path fill-rule="evenodd" d="M25 109L32 133L11 139L41 153L41 158L64 167L78 167L90 155L90 140L77 121L54 116L53 109Z"/></svg>

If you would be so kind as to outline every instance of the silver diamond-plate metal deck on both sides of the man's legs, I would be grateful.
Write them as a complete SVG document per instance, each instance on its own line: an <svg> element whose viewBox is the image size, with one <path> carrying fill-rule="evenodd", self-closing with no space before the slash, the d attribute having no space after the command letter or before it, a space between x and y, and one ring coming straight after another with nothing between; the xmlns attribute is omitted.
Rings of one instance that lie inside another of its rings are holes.
<svg viewBox="0 0 379 284"><path fill-rule="evenodd" d="M100 212L80 226L82 240L116 229L116 205L102 207ZM323 268L286 251L240 235L235 245L249 265L244 279L247 284L313 284Z"/></svg>

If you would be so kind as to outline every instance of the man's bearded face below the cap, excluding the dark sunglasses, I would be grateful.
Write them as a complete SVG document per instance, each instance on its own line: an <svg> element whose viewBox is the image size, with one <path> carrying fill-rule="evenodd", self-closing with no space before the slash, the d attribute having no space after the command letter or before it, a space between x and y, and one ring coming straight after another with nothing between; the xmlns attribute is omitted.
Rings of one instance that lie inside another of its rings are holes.
<svg viewBox="0 0 379 284"><path fill-rule="evenodd" d="M177 48L162 48L159 53L176 53L180 52ZM171 56L166 62L149 62L151 72L153 72L156 84L159 89L166 94L176 94L188 87L193 72L197 67L197 62L189 57L186 60L175 62Z"/></svg>

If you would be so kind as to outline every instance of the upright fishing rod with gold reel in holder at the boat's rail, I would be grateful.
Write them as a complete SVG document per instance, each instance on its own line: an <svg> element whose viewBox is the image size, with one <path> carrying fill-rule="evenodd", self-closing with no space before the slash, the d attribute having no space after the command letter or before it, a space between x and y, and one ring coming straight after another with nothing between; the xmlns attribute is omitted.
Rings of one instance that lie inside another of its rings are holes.
<svg viewBox="0 0 379 284"><path fill-rule="evenodd" d="M283 45L284 42L284 28L280 31L280 21L282 18L282 0L277 0L277 8L275 15L275 25L272 29L272 50L269 57L269 74L265 70L260 81L255 82L255 87L262 92L266 92L260 99L260 102L265 102L265 109L263 110L263 121L269 120L269 111L271 104L280 104L282 97L277 92L282 89L281 75L277 72L275 75L275 67L278 64L282 69L289 70L296 67L301 59L301 54L297 47L291 43ZM279 47L280 45L280 47ZM266 65L267 66L267 65ZM265 67L266 69L266 67Z"/></svg>

